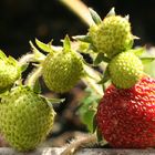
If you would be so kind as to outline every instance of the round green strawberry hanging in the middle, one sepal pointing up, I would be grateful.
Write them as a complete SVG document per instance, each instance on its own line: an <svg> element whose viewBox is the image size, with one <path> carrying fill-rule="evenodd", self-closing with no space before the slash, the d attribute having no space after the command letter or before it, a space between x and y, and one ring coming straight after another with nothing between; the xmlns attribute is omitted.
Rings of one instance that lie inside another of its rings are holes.
<svg viewBox="0 0 155 155"><path fill-rule="evenodd" d="M83 75L81 55L72 51L70 45L66 46L62 51L49 53L42 64L46 86L58 93L70 91Z"/></svg>

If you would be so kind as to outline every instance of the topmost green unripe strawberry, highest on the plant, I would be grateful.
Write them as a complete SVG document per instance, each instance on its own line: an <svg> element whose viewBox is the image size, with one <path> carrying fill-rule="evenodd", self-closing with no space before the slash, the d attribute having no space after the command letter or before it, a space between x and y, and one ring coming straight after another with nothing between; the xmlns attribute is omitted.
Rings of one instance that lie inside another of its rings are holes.
<svg viewBox="0 0 155 155"><path fill-rule="evenodd" d="M100 24L90 28L89 35L97 51L108 58L131 49L134 40L131 23L121 16L105 17Z"/></svg>

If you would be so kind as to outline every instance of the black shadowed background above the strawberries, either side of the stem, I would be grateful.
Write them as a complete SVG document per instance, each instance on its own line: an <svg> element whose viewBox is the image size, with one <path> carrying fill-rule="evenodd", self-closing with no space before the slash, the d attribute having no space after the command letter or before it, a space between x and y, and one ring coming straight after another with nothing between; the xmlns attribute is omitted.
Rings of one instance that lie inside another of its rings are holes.
<svg viewBox="0 0 155 155"><path fill-rule="evenodd" d="M155 1L83 0L104 18L112 7L118 14L130 14L133 32L141 40L135 44L155 44ZM86 25L59 0L1 0L0 49L19 58L30 50L29 40L43 42L86 33Z"/></svg>

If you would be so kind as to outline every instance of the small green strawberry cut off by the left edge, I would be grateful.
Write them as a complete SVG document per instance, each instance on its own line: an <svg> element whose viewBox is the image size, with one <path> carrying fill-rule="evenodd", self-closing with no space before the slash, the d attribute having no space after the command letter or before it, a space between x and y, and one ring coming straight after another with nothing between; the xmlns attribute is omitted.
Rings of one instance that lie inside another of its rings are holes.
<svg viewBox="0 0 155 155"><path fill-rule="evenodd" d="M17 61L9 56L7 58L0 51L0 92L12 86L12 84L20 78L21 71Z"/></svg>

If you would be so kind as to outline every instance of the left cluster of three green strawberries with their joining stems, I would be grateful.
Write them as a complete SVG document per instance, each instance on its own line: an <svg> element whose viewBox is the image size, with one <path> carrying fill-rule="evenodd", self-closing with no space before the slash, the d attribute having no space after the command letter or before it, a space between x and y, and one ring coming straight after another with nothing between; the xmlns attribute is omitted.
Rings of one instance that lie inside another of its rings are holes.
<svg viewBox="0 0 155 155"><path fill-rule="evenodd" d="M41 94L39 78L42 75L49 90L55 93L70 91L85 75L83 59L71 49L66 35L59 50L37 40L42 54L30 42L32 54L23 55L19 62L0 53L0 132L4 140L18 151L34 149L51 132L55 112L52 103L61 99L48 99ZM43 46L43 48L42 48ZM34 72L22 82L21 74L30 62Z"/></svg>

